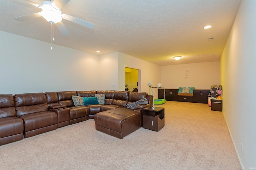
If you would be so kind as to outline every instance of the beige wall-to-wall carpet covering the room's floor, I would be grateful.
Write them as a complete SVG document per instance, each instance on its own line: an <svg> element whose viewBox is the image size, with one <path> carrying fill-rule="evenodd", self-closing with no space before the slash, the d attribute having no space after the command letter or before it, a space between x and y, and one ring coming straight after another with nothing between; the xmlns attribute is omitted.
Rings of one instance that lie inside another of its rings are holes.
<svg viewBox="0 0 256 170"><path fill-rule="evenodd" d="M0 146L0 169L240 170L222 112L170 102L165 126L124 139L95 130L94 119Z"/></svg>

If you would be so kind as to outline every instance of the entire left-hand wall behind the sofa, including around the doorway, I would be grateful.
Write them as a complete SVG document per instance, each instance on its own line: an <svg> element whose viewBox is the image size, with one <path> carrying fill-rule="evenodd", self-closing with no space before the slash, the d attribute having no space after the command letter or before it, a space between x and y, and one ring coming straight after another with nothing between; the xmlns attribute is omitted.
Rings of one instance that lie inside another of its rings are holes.
<svg viewBox="0 0 256 170"><path fill-rule="evenodd" d="M160 82L160 66L114 52L94 55L0 31L0 94L65 90L124 90L124 67L140 70L146 83Z"/></svg>

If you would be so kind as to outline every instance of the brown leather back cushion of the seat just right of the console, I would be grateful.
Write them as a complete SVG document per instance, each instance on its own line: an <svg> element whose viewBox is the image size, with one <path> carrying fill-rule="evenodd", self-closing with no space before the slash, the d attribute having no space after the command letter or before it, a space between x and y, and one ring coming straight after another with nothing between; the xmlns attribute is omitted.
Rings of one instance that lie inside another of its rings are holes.
<svg viewBox="0 0 256 170"><path fill-rule="evenodd" d="M72 96L76 96L76 91L64 91L57 92L59 104L65 107L75 106L72 100Z"/></svg>

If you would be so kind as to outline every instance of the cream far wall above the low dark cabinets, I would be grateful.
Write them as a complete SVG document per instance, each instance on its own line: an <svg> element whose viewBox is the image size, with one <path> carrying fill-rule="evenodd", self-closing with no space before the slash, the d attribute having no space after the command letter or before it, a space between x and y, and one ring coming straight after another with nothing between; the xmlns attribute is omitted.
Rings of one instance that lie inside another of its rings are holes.
<svg viewBox="0 0 256 170"><path fill-rule="evenodd" d="M189 78L184 78L185 70L189 70ZM161 66L161 82L164 88L210 89L220 85L220 62Z"/></svg>

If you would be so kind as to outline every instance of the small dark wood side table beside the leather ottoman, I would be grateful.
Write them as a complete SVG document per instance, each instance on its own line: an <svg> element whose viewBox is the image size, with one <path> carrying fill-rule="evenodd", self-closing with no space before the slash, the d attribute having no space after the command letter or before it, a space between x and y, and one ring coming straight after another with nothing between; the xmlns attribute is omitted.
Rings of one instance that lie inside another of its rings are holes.
<svg viewBox="0 0 256 170"><path fill-rule="evenodd" d="M143 128L160 131L164 127L164 107L146 107L142 109Z"/></svg>

